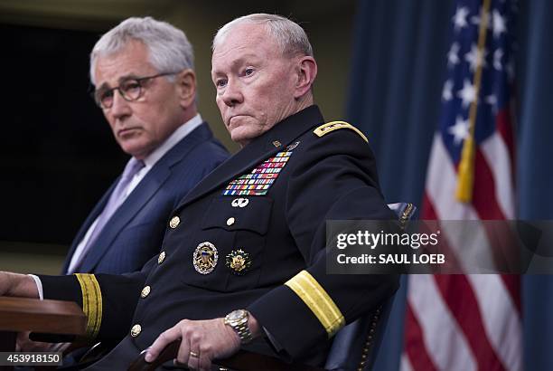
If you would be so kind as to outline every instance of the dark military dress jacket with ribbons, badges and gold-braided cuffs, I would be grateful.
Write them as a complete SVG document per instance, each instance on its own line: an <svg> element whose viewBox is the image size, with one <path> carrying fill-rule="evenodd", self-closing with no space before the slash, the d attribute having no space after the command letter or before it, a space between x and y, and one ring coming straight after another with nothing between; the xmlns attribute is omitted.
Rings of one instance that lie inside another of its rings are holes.
<svg viewBox="0 0 553 371"><path fill-rule="evenodd" d="M323 122L316 106L304 109L204 178L141 272L41 276L45 298L79 302L89 336L125 337L105 362L136 357L181 319L248 309L270 335L250 350L322 364L329 338L398 287L396 276L326 274L327 219L395 216L366 138Z"/></svg>

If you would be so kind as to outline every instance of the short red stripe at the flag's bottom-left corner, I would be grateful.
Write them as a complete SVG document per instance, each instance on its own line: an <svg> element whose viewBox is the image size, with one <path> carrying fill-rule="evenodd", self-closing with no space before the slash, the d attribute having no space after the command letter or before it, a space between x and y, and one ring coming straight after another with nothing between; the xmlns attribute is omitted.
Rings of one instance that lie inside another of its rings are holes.
<svg viewBox="0 0 553 371"><path fill-rule="evenodd" d="M432 358L426 352L422 328L415 318L413 309L409 303L407 305L406 316L405 351L408 354L411 366L414 370L437 371Z"/></svg>

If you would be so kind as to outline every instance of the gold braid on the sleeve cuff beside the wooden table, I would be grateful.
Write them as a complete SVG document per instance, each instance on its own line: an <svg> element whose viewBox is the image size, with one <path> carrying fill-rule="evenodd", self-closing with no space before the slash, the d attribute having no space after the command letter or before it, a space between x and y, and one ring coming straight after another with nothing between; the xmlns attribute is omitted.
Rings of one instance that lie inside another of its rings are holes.
<svg viewBox="0 0 553 371"><path fill-rule="evenodd" d="M102 292L94 274L75 273L82 290L82 311L87 316L87 338L96 338L102 323Z"/></svg>

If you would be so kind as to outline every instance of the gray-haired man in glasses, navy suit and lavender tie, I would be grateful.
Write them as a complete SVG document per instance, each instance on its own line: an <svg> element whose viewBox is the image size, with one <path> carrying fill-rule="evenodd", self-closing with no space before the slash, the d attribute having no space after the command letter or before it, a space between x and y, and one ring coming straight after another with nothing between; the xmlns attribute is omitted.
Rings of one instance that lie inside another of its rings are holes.
<svg viewBox="0 0 553 371"><path fill-rule="evenodd" d="M132 157L81 226L63 273L137 271L159 252L173 208L228 154L197 112L192 45L171 24L117 25L96 43L90 78Z"/></svg>

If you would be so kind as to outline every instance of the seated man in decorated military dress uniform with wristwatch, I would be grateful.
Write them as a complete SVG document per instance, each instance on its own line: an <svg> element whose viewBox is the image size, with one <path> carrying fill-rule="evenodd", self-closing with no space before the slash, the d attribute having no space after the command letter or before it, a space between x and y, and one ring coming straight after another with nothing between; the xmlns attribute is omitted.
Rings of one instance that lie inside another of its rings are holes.
<svg viewBox="0 0 553 371"><path fill-rule="evenodd" d="M286 18L220 29L211 74L241 150L174 210L142 271L40 277L44 298L80 303L89 337L123 338L94 369L123 368L148 347L152 360L178 338L177 360L193 369L239 347L321 365L336 331L397 289L394 276L326 274L326 220L394 216L367 138L314 106L316 73L304 30ZM37 296L10 273L3 292Z"/></svg>

